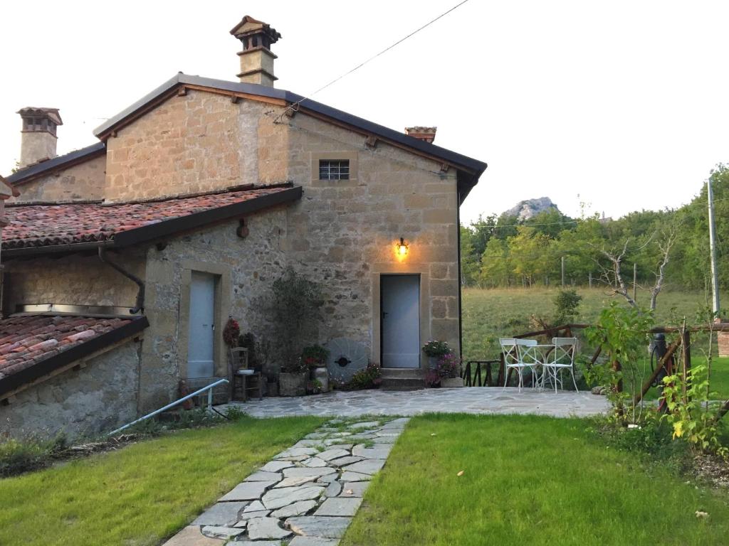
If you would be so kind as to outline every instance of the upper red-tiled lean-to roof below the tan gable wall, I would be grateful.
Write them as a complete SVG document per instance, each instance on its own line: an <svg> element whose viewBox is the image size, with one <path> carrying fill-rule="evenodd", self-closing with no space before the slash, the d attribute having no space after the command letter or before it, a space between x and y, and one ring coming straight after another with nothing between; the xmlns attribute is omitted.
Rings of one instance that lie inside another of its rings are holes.
<svg viewBox="0 0 729 546"><path fill-rule="evenodd" d="M12 205L6 207L9 225L2 230L2 248L114 240L117 235L135 229L291 190L271 186L109 205L99 202Z"/></svg>

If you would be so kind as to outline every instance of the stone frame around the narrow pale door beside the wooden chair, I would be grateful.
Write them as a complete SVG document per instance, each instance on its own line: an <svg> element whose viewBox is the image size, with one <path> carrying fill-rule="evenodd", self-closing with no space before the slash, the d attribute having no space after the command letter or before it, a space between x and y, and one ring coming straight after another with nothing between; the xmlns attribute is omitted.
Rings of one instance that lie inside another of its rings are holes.
<svg viewBox="0 0 729 546"><path fill-rule="evenodd" d="M179 379L187 379L187 347L190 337L190 281L192 272L208 273L215 277L214 317L215 332L213 334L213 373L215 377L227 377L227 354L222 329L230 315L230 268L220 264L208 264L198 261L184 261L180 279L180 314L177 341L179 358Z"/></svg>

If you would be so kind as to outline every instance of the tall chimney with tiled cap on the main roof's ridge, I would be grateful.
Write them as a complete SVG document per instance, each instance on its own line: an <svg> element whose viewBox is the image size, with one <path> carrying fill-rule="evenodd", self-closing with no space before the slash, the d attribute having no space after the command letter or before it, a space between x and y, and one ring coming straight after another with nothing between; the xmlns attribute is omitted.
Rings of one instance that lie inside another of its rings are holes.
<svg viewBox="0 0 729 546"><path fill-rule="evenodd" d="M241 58L241 74L238 74L238 78L241 82L273 87L273 82L278 78L273 75L276 55L273 55L270 47L281 38L281 34L268 23L255 20L250 15L243 17L230 33L243 44L243 50L238 52Z"/></svg>

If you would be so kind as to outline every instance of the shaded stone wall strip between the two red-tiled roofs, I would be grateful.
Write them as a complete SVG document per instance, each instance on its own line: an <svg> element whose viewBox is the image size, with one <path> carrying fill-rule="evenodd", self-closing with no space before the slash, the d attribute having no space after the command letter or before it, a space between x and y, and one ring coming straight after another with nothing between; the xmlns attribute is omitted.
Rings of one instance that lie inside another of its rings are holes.
<svg viewBox="0 0 729 546"><path fill-rule="evenodd" d="M141 250L106 253L128 271L144 278ZM63 258L9 260L3 264L4 311L15 312L17 304L65 304L133 307L137 285L103 264L95 254Z"/></svg>

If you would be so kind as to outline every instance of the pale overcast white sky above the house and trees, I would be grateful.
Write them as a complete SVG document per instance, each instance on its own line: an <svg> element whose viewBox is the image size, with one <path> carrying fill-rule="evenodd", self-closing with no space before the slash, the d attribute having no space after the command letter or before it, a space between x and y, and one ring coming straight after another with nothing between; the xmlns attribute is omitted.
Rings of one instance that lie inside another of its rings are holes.
<svg viewBox="0 0 729 546"><path fill-rule="evenodd" d="M63 154L177 71L236 80L243 15L283 35L276 85L307 95L458 1L6 2L0 173L23 106L61 108ZM729 162L728 21L727 1L470 0L314 98L437 125L487 162L466 221L542 196L569 215L677 207Z"/></svg>

